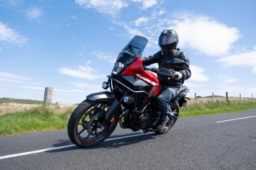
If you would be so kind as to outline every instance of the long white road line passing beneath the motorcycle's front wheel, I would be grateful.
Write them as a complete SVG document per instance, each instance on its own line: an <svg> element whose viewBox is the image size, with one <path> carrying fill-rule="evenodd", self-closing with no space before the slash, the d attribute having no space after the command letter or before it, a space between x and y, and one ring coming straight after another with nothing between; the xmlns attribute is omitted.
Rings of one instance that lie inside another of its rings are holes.
<svg viewBox="0 0 256 170"><path fill-rule="evenodd" d="M121 137L117 137L117 138L106 139L104 142L113 141L113 140L116 140L116 139L131 138L131 137L135 137L135 136L143 136L143 135L148 135L148 134L151 134L151 133L154 133L154 132L148 132L146 134L140 133L140 134L136 134L136 135L121 136ZM73 146L76 146L76 144L69 144L69 145L60 146L60 147L51 147L51 148L47 148L47 149L34 150L34 151L30 151L30 152L23 152L23 153L16 153L16 154L12 154L12 155L0 156L0 159L12 158L12 157L23 156L23 155L29 155L29 154L32 154L32 153L40 153L40 152L45 152L45 151L49 151L49 150L63 149L63 148L66 148L66 147L73 147Z"/></svg>

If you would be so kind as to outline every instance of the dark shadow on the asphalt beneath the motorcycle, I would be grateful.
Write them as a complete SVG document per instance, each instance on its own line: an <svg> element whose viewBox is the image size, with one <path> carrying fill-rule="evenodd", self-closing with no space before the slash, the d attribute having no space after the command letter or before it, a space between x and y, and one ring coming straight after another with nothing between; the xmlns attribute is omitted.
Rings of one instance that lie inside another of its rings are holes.
<svg viewBox="0 0 256 170"><path fill-rule="evenodd" d="M108 139L122 137L122 136L128 136L128 135L136 135L136 134L140 134L140 133L128 133L128 134L124 134L124 135L113 135L113 136L110 136L110 138L108 138ZM129 138L124 138L124 139L116 139L113 141L106 141L106 142L103 142L94 147L74 146L74 147L67 147L67 148L58 149L58 150L49 150L46 152L55 153L55 152L63 152L63 151L68 151L68 150L77 150L77 149L89 149L90 150L90 149L98 149L98 148L113 149L113 148L118 148L118 147L130 145L130 144L136 144L136 143L146 141L149 139L155 139L156 136L160 137L160 135L158 135L157 133L151 133L151 134L145 134L143 136L135 136L135 137L129 137ZM73 144L70 140L61 140L60 139L56 142L59 142L59 143L53 144L52 145L53 147L60 147L60 146L64 146L64 145Z"/></svg>

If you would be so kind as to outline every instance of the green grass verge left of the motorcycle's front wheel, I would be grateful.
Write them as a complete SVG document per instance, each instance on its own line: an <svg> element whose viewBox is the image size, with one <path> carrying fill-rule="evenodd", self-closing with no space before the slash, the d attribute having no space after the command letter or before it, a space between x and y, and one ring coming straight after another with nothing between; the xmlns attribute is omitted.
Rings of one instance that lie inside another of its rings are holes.
<svg viewBox="0 0 256 170"><path fill-rule="evenodd" d="M67 122L73 107L63 113L57 113L55 108L36 107L0 116L0 135L36 132L40 130L57 130L67 128Z"/></svg>

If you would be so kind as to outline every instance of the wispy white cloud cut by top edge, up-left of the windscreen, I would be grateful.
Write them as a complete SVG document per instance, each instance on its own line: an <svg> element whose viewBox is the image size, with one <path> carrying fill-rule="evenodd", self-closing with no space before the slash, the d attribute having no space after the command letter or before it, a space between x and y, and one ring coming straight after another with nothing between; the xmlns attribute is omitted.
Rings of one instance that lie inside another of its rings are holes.
<svg viewBox="0 0 256 170"><path fill-rule="evenodd" d="M76 0L75 3L84 8L94 8L101 14L110 14L112 17L116 17L121 8L128 6L123 0Z"/></svg>

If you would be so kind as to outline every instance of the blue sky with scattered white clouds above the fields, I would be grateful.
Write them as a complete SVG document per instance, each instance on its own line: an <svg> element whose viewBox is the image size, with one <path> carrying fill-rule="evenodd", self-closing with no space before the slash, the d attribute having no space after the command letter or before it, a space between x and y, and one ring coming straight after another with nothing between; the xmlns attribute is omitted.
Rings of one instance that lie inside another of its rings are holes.
<svg viewBox="0 0 256 170"><path fill-rule="evenodd" d="M134 35L148 38L148 57L166 29L189 56L189 96L256 96L255 8L254 0L0 0L0 97L42 100L52 87L54 102L81 102L103 90Z"/></svg>

